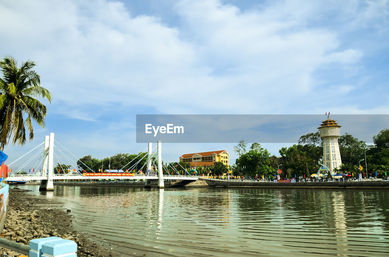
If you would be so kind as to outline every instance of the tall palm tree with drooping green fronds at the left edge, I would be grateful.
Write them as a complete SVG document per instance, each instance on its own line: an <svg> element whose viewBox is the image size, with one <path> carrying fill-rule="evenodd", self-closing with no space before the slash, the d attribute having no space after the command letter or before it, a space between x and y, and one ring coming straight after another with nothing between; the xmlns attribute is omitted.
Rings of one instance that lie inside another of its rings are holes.
<svg viewBox="0 0 389 257"><path fill-rule="evenodd" d="M37 64L26 61L20 67L13 57L0 60L3 78L0 78L0 150L12 138L12 145L26 142L26 128L30 141L34 138L32 121L45 127L47 108L34 97L51 102L49 90L40 87L40 76L32 68Z"/></svg>

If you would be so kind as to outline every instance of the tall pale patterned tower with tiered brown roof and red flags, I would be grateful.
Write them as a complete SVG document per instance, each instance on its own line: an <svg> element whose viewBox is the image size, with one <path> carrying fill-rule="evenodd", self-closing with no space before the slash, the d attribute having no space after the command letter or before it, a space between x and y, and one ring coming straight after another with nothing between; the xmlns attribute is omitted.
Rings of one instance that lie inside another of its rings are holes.
<svg viewBox="0 0 389 257"><path fill-rule="evenodd" d="M342 126L338 125L336 120L331 120L329 115L327 120L324 120L318 127L320 137L323 139L323 164L329 168L331 174L336 173L334 170L342 165L338 144L340 127Z"/></svg>

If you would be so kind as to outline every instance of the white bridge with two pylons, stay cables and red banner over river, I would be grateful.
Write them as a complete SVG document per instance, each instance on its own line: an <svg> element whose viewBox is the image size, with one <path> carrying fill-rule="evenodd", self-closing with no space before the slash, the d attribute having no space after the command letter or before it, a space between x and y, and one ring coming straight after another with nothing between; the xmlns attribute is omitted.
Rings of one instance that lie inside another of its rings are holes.
<svg viewBox="0 0 389 257"><path fill-rule="evenodd" d="M57 141L55 141L55 142L57 142ZM198 179L198 177L190 175L187 171L185 171L187 175L179 174L179 171L170 163L163 165L162 155L165 155L165 153L163 153L163 151L162 151L163 148L162 148L161 141L157 142L156 152L153 152L153 150L155 148L153 149L152 143L149 143L148 148L147 148L147 155L145 155L142 159L138 160L137 162L133 163L133 165L131 166L131 168L137 167L136 165L138 165L140 163L140 161L142 161L147 156L147 159L145 161L145 164L147 163L147 174L141 173L141 170L142 170L142 167L141 167L139 170L137 170L136 173L134 173L134 174L124 173L125 175L123 175L121 173L118 173L118 174L112 173L109 175L107 173L96 173L95 171L93 171L89 167L88 167L88 169L91 172L86 173L86 174L82 174L78 170L76 170L77 173L75 173L75 174L74 173L72 173L72 174L54 174L54 165L53 165L54 164L54 162L53 162L54 155L57 156L54 153L54 133L50 133L50 135L46 135L45 141L42 142L41 145L42 144L44 144L43 154L42 154L42 156L43 156L42 170L40 172L37 172L37 174L26 174L26 175L25 174L17 174L17 172L16 172L16 174L9 174L7 177L7 180L19 180L19 181L40 180L40 187L39 187L40 191L53 191L54 190L53 180L89 180L89 179L128 179L128 180L137 179L137 180L141 180L141 179L143 179L143 180L145 180L145 188L151 187L150 182L152 180L158 180L158 188L164 188L165 187L164 182L163 182L164 179L192 180L192 181L196 181ZM39 146L37 146L36 148L38 148ZM58 151L60 153L62 153L60 150L58 150ZM142 153L145 153L145 151L143 151ZM35 154L35 156L37 156L37 154ZM138 156L140 156L140 155L138 155ZM170 155L170 157L172 157L172 156ZM57 158L58 158L58 156L57 156ZM68 158L67 156L65 156L65 158L68 161L70 160L70 158ZM30 158L30 160L32 160L32 159L33 158ZM79 160L79 159L77 159L77 160ZM131 160L124 167L129 165L134 160L135 159ZM82 163L82 164L84 164L84 163ZM154 172L153 173L150 172L152 170L152 164L154 164ZM79 167L77 164L75 165L75 167L78 167L81 169L81 167ZM169 174L166 174L166 172L165 172L165 174L163 174L163 168L165 168L165 170L168 170L170 168L171 170L173 170L173 172L175 172L175 174L170 174L169 172L168 172ZM20 171L20 169L19 169L19 171ZM93 175L92 175L92 173L93 173ZM101 175L99 175L99 174L101 174Z"/></svg>

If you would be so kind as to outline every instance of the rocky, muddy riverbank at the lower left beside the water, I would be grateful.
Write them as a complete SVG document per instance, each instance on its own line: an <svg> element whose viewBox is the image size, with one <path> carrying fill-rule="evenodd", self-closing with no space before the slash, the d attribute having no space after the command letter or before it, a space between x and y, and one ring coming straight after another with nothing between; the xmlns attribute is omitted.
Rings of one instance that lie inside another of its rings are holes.
<svg viewBox="0 0 389 257"><path fill-rule="evenodd" d="M56 200L45 200L26 193L25 189L9 190L9 209L1 237L28 245L35 238L58 236L74 240L77 245L77 256L87 257L124 257L115 251L109 243L98 244L89 240L88 235L76 231L72 225L71 210L59 210ZM101 238L103 240L103 238ZM0 248L1 255L19 256L19 253ZM139 252L139 251L138 251ZM132 256L144 256L144 252Z"/></svg>

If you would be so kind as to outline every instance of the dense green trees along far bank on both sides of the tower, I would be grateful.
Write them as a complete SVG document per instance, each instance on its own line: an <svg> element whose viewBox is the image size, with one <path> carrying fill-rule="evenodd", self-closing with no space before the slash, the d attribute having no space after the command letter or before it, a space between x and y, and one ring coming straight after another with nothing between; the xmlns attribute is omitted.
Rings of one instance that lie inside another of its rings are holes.
<svg viewBox="0 0 389 257"><path fill-rule="evenodd" d="M368 173L371 175L386 175L389 171L389 129L381 130L373 136L374 147L366 149L366 142L360 141L351 134L345 133L338 137L339 151L342 158L342 166L338 172L345 174L359 173L359 161L365 158ZM237 153L234 175L281 175L283 177L309 177L317 173L322 163L323 148L319 132L302 135L298 144L283 147L279 150L280 156L270 155L267 149L258 143L253 143L247 149L247 143L241 140L234 151ZM366 170L365 162L361 162L363 171ZM278 173L277 167L282 170ZM368 175L368 174L366 174ZM389 174L388 174L389 175Z"/></svg>

